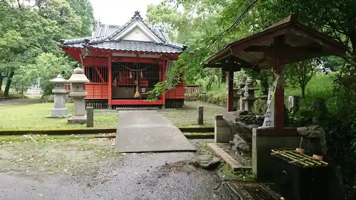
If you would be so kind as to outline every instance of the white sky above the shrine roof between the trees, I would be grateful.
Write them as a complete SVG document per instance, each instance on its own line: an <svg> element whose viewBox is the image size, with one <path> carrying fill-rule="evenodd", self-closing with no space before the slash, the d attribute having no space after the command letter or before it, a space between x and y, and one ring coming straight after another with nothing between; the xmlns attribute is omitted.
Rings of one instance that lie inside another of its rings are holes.
<svg viewBox="0 0 356 200"><path fill-rule="evenodd" d="M140 11L143 18L146 16L147 5L161 3L161 0L91 0L95 19L100 18L103 24L124 25Z"/></svg>

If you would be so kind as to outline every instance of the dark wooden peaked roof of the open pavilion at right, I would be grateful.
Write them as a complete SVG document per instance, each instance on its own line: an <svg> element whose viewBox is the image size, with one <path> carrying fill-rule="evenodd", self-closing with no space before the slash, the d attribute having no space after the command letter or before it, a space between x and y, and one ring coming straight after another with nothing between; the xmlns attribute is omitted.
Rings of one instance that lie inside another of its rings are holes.
<svg viewBox="0 0 356 200"><path fill-rule="evenodd" d="M277 39L277 40L276 40ZM282 46L276 49L276 42ZM221 68L226 62L236 68L272 68L276 54L291 63L328 55L343 55L348 47L298 21L295 14L273 24L258 34L227 45L205 61L205 67Z"/></svg>

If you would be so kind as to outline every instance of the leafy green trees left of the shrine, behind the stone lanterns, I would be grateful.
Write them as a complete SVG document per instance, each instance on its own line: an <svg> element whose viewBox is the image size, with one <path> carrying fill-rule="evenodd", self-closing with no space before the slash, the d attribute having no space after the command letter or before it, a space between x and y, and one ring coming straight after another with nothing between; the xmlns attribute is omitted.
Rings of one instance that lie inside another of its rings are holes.
<svg viewBox="0 0 356 200"><path fill-rule="evenodd" d="M43 55L49 55L48 59L56 56L64 66L72 66L70 59L58 49L60 39L91 35L95 22L93 8L87 0L4 0L0 2L0 19L3 36L0 37L0 78L7 78L5 96L9 95L12 77L23 75L27 80L31 76L24 69L38 65ZM43 69L38 66L38 70ZM38 76L52 70L56 73L55 68L48 66Z"/></svg>

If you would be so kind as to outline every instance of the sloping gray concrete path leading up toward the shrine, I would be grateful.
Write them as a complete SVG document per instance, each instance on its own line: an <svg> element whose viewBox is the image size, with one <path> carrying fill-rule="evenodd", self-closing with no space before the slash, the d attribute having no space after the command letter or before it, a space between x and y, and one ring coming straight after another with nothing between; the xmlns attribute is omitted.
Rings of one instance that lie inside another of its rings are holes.
<svg viewBox="0 0 356 200"><path fill-rule="evenodd" d="M157 111L119 111L118 152L196 152L195 147Z"/></svg>

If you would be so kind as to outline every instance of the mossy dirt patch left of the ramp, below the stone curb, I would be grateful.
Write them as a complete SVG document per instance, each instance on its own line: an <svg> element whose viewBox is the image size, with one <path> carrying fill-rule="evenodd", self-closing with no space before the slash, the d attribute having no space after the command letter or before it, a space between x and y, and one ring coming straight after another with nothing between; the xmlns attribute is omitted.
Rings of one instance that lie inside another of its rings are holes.
<svg viewBox="0 0 356 200"><path fill-rule="evenodd" d="M0 173L93 175L102 164L121 159L114 151L114 139L25 137L2 141Z"/></svg>

